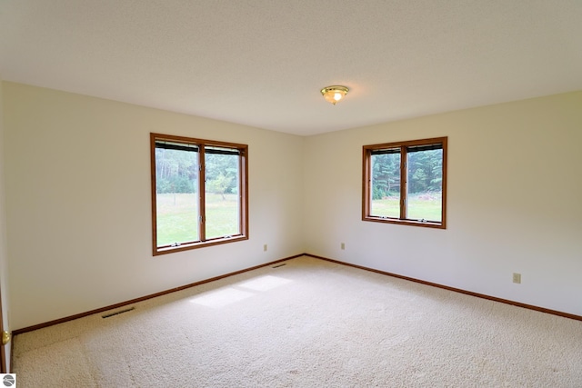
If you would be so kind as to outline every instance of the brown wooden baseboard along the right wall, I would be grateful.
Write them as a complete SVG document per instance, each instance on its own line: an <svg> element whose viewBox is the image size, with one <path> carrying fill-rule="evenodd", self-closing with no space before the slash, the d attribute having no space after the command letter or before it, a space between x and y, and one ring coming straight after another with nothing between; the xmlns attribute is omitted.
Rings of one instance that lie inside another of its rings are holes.
<svg viewBox="0 0 582 388"><path fill-rule="evenodd" d="M467 290L463 290L460 288L455 288L455 287L449 287L447 285L443 285L443 284L437 284L437 283L431 283L431 282L426 282L424 280L419 280L419 279L415 279L412 277L408 277L408 276L404 276L401 274L392 274L392 273L388 273L385 271L380 271L380 270L376 270L374 268L368 268L362 265L356 265L356 264L350 264L350 263L346 263L346 262L340 262L339 260L334 260L334 259L329 259L327 257L323 257L323 256L318 256L316 254L305 254L306 256L309 257L313 257L316 259L321 259L321 260L326 260L327 262L331 262L331 263L336 263L336 264L343 264L343 265L347 265L350 267L354 267L354 268L358 268L361 270L365 270L365 271L370 271L370 272L374 272L376 274L385 274L386 276L392 276L392 277L396 277L398 279L404 279L404 280L408 280L410 282L415 282L415 283L419 283L419 284L426 284L426 285L430 285L433 287L437 287L437 288L442 288L448 291L454 291L456 293L465 293L467 295L471 295L471 296L476 296L477 298L482 298L482 299L488 299L490 301L494 301L494 302L500 302L500 303L506 303L506 304L511 304L517 307L523 307L529 310L535 310L541 313L551 313L553 315L558 315L564 318L569 318L569 319L574 319L577 321L582 321L582 316L581 315L576 315L573 313L563 313L557 310L551 310L551 309L547 309L544 307L538 307L532 304L527 304L527 303L520 303L520 302L514 302L514 301L510 301L508 299L502 299L502 298L497 298L495 296L489 296L486 295L484 293L474 293L472 291L467 291Z"/></svg>

